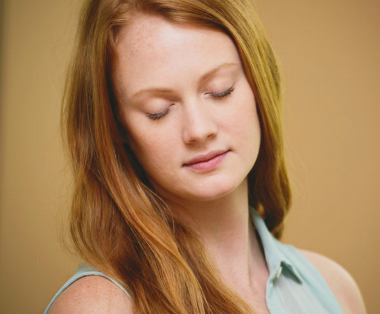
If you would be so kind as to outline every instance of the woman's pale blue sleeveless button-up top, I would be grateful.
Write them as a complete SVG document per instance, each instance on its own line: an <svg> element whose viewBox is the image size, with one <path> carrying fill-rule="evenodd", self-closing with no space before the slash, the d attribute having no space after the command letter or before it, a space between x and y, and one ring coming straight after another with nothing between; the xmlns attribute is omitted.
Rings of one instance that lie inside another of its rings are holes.
<svg viewBox="0 0 380 314"><path fill-rule="evenodd" d="M344 314L332 291L317 269L293 246L280 243L267 229L260 215L251 211L251 218L260 236L270 276L265 298L271 314ZM81 265L56 293L45 310L73 282L85 276L102 276L117 285L132 300L116 280L106 274Z"/></svg>

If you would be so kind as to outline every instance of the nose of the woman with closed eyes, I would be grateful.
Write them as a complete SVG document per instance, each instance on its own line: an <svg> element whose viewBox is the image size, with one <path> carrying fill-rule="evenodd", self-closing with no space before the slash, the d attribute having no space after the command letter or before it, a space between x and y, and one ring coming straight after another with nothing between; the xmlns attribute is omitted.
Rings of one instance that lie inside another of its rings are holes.
<svg viewBox="0 0 380 314"><path fill-rule="evenodd" d="M207 104L199 102L187 107L183 117L183 141L186 144L200 143L217 134L215 116Z"/></svg>

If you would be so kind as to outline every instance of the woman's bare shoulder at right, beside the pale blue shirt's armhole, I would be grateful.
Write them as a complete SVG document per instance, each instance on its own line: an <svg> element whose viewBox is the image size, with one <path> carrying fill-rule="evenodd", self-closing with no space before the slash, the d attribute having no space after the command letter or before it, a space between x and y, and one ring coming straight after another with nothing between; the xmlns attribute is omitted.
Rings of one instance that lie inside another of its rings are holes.
<svg viewBox="0 0 380 314"><path fill-rule="evenodd" d="M298 250L321 273L346 314L365 314L359 288L346 269L318 253Z"/></svg>

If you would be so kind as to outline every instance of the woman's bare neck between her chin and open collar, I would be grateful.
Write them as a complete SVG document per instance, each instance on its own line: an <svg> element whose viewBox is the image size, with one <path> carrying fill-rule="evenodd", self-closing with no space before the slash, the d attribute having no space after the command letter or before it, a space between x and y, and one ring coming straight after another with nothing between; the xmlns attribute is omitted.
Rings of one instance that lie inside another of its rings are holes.
<svg viewBox="0 0 380 314"><path fill-rule="evenodd" d="M223 198L171 206L199 234L227 285L248 293L255 286L257 273L268 272L249 217L246 181Z"/></svg>

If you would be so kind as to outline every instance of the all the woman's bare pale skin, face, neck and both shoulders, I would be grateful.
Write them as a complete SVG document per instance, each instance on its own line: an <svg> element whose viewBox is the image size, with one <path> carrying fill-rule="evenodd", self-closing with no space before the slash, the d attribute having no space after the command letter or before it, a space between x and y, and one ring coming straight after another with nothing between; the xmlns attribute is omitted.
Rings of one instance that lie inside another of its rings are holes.
<svg viewBox="0 0 380 314"><path fill-rule="evenodd" d="M219 31L138 15L121 30L114 61L120 121L150 182L199 233L223 281L258 314L268 314L269 271L248 215L247 174L257 157L260 129L235 45ZM204 161L210 152L211 161L209 155ZM199 156L204 162L194 163ZM360 292L343 268L300 252L320 271L346 314L365 313ZM132 312L129 298L97 276L72 284L50 310Z"/></svg>

